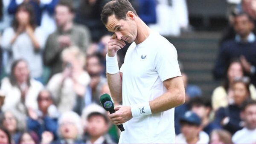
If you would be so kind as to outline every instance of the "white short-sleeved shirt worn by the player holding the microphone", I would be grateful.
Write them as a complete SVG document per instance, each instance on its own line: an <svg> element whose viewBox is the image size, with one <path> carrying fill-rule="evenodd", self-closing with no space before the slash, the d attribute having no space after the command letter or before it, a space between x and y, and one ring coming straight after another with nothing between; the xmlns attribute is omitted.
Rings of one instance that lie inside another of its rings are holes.
<svg viewBox="0 0 256 144"><path fill-rule="evenodd" d="M120 72L126 106L154 100L167 91L163 81L181 76L175 47L153 31L142 43L131 44ZM132 118L124 128L119 143L175 143L174 108Z"/></svg>

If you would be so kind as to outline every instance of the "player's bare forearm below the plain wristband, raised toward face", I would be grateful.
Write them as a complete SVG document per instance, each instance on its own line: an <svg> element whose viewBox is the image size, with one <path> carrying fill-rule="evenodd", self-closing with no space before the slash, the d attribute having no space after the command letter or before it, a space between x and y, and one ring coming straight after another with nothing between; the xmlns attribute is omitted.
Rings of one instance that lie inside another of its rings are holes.
<svg viewBox="0 0 256 144"><path fill-rule="evenodd" d="M118 106L122 101L122 72L116 74L107 73L107 80L115 106Z"/></svg>

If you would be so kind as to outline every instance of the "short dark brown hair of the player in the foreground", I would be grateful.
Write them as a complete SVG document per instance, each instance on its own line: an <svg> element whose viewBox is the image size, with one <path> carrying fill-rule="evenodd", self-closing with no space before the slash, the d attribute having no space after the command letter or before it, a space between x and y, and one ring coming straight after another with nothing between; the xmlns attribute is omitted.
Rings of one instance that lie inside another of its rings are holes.
<svg viewBox="0 0 256 144"><path fill-rule="evenodd" d="M137 15L136 11L128 0L112 0L103 7L101 20L104 24L107 24L108 17L112 14L114 14L118 20L126 20L126 14L129 11Z"/></svg>

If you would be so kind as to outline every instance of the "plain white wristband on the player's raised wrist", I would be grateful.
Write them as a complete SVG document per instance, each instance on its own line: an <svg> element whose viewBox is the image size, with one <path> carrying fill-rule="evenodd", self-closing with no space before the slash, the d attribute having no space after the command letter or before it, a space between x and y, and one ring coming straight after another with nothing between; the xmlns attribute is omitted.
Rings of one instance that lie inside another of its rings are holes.
<svg viewBox="0 0 256 144"><path fill-rule="evenodd" d="M106 61L107 61L107 64L106 64L107 73L116 74L119 72L119 66L118 66L116 55L114 57L109 57L107 54Z"/></svg>

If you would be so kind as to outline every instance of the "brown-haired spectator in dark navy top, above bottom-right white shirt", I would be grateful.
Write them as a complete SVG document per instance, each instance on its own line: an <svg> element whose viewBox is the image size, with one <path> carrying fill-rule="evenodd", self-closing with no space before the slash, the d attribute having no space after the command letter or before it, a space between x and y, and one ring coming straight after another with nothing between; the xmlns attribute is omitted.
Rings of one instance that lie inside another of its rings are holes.
<svg viewBox="0 0 256 144"><path fill-rule="evenodd" d="M243 127L240 118L240 107L246 99L250 98L248 80L246 78L235 79L232 84L232 90L234 102L216 111L215 122L231 134L234 134Z"/></svg>

